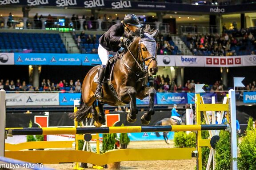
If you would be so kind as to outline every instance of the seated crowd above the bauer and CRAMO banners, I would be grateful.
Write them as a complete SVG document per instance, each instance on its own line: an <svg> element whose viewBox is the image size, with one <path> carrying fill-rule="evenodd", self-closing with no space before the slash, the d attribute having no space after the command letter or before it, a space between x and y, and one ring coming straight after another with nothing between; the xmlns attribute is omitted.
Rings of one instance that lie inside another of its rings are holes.
<svg viewBox="0 0 256 170"><path fill-rule="evenodd" d="M223 34L188 34L183 38L194 55L232 56L255 54L256 30L224 25Z"/></svg>

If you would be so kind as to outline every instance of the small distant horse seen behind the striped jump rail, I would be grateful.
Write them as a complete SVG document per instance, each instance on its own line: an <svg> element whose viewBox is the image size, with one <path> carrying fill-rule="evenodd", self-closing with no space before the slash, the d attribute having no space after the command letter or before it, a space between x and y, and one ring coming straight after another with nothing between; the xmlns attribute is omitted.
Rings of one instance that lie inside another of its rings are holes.
<svg viewBox="0 0 256 170"><path fill-rule="evenodd" d="M179 123L178 121L176 121L175 119L173 119L172 117L171 118L164 118L164 119L162 119L162 120L160 120L160 121L158 121L158 122L156 122L156 124L155 125L157 125L157 126L169 126L169 125L180 125L180 124L184 124L184 122L186 122L186 114L182 114L181 115L181 120L182 120L182 122L181 123ZM159 132L155 132L156 133L156 137L160 137L160 134L159 134ZM163 136L164 136L164 141L165 141L165 143L167 143L167 144L170 144L170 140L168 139L168 131L164 131L163 132Z"/></svg>

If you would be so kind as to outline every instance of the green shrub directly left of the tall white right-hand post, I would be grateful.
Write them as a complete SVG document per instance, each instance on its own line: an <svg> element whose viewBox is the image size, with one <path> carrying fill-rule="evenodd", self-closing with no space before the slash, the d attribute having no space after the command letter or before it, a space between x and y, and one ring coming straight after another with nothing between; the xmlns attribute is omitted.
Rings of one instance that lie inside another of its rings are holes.
<svg viewBox="0 0 256 170"><path fill-rule="evenodd" d="M230 133L229 131L220 131L220 140L216 143L215 170L230 170L231 156L230 156Z"/></svg>

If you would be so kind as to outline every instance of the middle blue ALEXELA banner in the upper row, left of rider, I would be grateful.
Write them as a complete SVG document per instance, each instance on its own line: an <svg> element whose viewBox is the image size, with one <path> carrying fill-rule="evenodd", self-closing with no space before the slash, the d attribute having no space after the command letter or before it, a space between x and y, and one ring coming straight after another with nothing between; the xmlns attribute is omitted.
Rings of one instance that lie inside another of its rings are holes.
<svg viewBox="0 0 256 170"><path fill-rule="evenodd" d="M49 65L80 66L81 54L47 54Z"/></svg>

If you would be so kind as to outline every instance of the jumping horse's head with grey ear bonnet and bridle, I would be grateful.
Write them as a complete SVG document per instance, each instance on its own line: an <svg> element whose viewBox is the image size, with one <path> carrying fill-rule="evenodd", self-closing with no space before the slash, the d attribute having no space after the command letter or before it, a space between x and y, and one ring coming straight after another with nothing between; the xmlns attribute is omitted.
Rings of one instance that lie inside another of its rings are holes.
<svg viewBox="0 0 256 170"><path fill-rule="evenodd" d="M141 62L144 62L148 68L148 74L150 76L156 75L158 71L156 62L156 36L158 29L152 34L145 32L143 28L140 29L139 40L139 58Z"/></svg>

